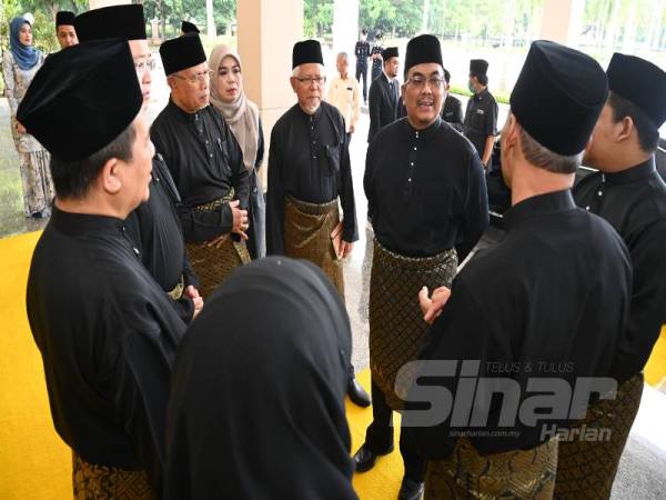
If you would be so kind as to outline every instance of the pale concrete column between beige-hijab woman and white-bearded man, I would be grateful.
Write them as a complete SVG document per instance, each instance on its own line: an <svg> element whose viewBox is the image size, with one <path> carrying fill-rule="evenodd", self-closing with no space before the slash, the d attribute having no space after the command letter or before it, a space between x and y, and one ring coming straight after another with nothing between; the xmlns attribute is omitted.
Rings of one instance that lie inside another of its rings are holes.
<svg viewBox="0 0 666 500"><path fill-rule="evenodd" d="M303 0L239 1L236 18L243 86L261 111L268 166L273 124L296 102L289 79L293 46L303 39ZM261 169L264 187L266 170Z"/></svg>

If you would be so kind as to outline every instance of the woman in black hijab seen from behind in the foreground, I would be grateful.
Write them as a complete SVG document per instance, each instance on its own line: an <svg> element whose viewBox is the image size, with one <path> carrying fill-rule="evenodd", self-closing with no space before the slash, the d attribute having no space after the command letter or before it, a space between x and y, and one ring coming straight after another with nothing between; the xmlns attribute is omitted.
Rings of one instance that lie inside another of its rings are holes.
<svg viewBox="0 0 666 500"><path fill-rule="evenodd" d="M350 351L344 304L314 264L269 257L235 269L175 361L165 499L356 499Z"/></svg>

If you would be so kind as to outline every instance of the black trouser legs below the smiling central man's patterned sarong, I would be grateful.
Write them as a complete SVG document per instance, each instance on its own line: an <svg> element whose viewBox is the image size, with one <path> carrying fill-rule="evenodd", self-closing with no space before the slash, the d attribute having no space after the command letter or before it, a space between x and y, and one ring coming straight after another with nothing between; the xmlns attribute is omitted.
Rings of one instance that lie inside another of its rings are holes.
<svg viewBox="0 0 666 500"><path fill-rule="evenodd" d="M386 404L382 390L372 381L372 423L365 431L365 446L375 453L383 453L393 446L393 410ZM405 477L421 482L425 477L426 461L418 457L410 433L400 430L400 454L405 464Z"/></svg>

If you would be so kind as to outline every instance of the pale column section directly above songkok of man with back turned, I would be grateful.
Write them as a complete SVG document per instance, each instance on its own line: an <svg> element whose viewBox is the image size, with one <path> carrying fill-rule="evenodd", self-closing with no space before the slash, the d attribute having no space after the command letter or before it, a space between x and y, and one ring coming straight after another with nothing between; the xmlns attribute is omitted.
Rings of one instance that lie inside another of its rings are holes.
<svg viewBox="0 0 666 500"><path fill-rule="evenodd" d="M584 9L585 0L545 0L541 38L576 47Z"/></svg>

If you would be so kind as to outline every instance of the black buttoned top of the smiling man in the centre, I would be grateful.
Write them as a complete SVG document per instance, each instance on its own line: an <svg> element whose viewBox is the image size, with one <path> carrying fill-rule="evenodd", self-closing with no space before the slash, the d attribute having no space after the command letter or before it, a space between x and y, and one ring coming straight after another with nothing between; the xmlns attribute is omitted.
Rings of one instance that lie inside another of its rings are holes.
<svg viewBox="0 0 666 500"><path fill-rule="evenodd" d="M455 248L462 262L488 226L478 154L440 117L424 130L406 118L382 129L367 148L363 186L375 238L402 256Z"/></svg>

